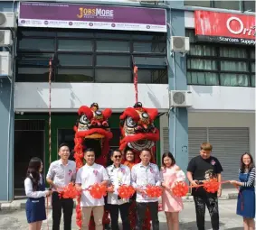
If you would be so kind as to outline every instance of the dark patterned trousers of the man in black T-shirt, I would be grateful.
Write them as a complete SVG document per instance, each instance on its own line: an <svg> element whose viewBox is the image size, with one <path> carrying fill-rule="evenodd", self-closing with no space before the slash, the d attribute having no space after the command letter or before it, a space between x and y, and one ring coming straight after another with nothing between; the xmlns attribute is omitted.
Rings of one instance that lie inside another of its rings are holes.
<svg viewBox="0 0 256 230"><path fill-rule="evenodd" d="M196 224L198 230L204 230L205 205L211 216L213 230L219 230L218 198L194 197Z"/></svg>

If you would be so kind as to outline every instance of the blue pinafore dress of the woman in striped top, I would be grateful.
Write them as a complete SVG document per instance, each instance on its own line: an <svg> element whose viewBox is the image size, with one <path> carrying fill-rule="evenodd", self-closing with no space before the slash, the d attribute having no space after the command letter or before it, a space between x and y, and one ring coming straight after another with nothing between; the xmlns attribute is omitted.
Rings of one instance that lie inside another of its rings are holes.
<svg viewBox="0 0 256 230"><path fill-rule="evenodd" d="M250 173L251 171L248 173L240 172L239 180L241 182L247 182L250 177ZM251 187L240 188L240 193L238 194L237 199L236 214L246 218L255 217L255 189L253 184Z"/></svg>

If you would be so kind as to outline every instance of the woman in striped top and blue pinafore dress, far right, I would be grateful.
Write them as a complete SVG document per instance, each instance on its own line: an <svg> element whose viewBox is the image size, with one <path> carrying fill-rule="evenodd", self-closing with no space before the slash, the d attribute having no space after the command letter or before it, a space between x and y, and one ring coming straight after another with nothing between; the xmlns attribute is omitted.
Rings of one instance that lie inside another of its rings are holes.
<svg viewBox="0 0 256 230"><path fill-rule="evenodd" d="M245 152L241 157L239 169L239 180L231 180L233 185L240 186L240 193L237 199L236 214L243 217L244 230L255 229L255 166L250 153Z"/></svg>

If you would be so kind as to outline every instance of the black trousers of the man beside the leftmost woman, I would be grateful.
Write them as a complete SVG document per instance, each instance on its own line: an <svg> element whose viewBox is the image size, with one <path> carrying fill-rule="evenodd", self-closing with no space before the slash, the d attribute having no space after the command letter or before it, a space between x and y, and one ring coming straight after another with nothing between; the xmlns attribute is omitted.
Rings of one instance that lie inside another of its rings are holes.
<svg viewBox="0 0 256 230"><path fill-rule="evenodd" d="M52 192L52 230L60 230L62 209L64 230L71 230L73 207L74 202L71 198L60 198L58 192Z"/></svg>

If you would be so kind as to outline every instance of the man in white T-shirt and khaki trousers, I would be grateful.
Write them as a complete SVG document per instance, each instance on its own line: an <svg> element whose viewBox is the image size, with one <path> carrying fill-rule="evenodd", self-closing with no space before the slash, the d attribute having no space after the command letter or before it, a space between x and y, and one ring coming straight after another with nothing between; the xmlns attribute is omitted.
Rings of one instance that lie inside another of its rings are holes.
<svg viewBox="0 0 256 230"><path fill-rule="evenodd" d="M90 214L93 212L95 230L102 230L102 217L104 214L104 198L92 198L89 189L94 184L107 185L109 182L109 176L107 170L95 163L95 152L93 149L87 149L84 152L84 159L86 164L81 167L77 172L76 187L78 190L82 190L81 193L81 216L82 224L81 230L89 230Z"/></svg>

